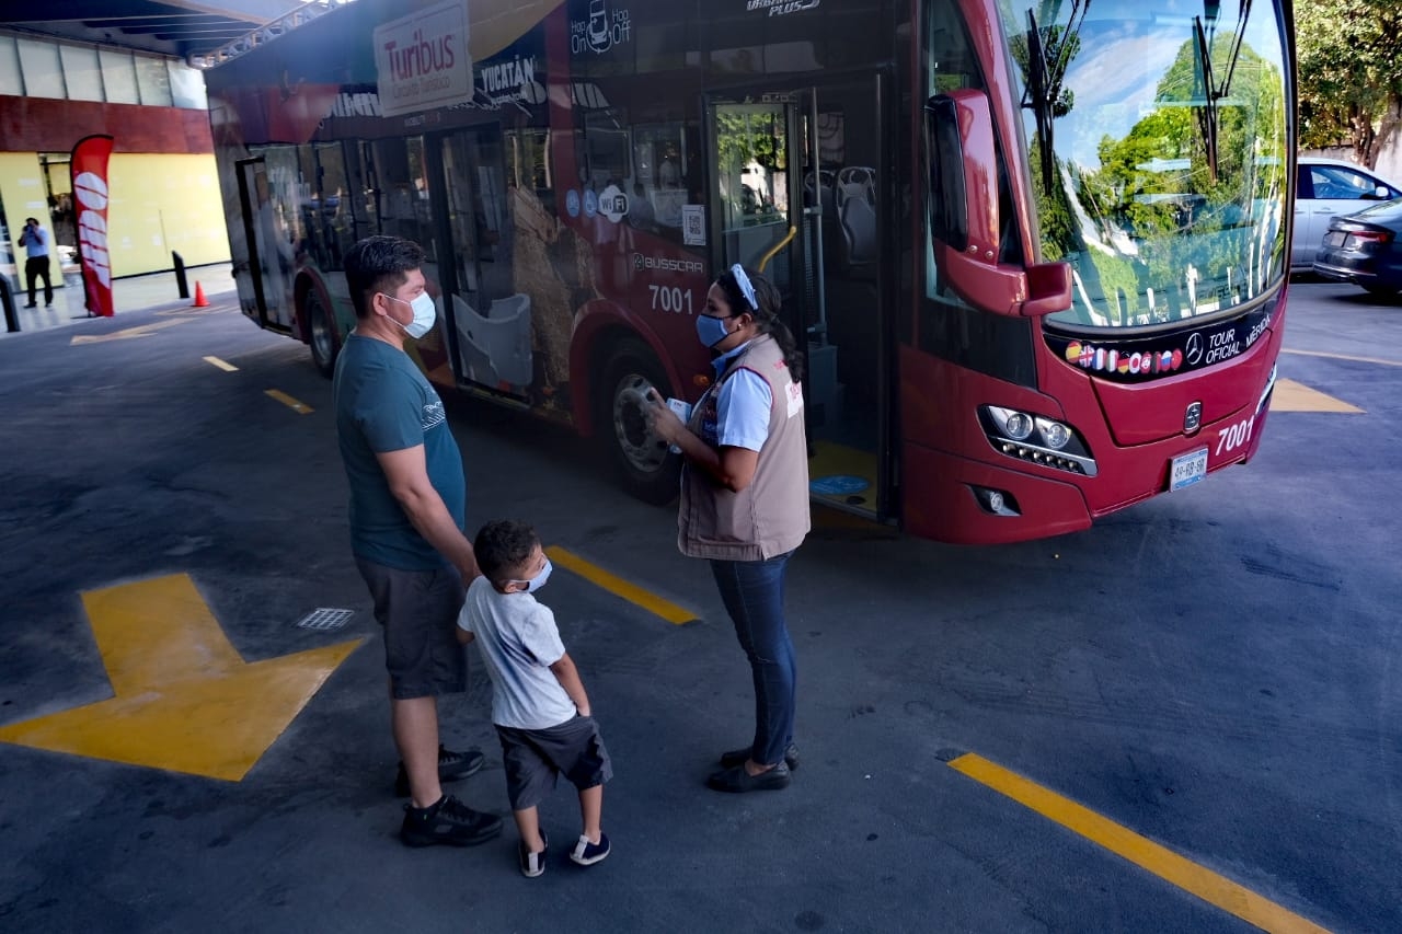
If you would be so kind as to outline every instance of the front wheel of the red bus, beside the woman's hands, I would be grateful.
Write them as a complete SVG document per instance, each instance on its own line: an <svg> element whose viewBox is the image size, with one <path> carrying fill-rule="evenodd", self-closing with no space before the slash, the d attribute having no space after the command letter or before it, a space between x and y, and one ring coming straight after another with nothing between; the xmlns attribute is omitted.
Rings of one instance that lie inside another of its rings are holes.
<svg viewBox="0 0 1402 934"><path fill-rule="evenodd" d="M648 429L644 393L656 387L663 398L672 394L667 377L652 352L628 342L613 352L603 367L597 431L624 488L642 499L662 505L677 495L681 457Z"/></svg>

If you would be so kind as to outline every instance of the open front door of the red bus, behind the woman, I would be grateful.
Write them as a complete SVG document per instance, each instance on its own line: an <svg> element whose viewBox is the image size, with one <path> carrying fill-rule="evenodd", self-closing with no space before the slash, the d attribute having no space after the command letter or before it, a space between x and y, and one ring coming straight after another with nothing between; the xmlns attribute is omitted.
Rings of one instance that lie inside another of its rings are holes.
<svg viewBox="0 0 1402 934"><path fill-rule="evenodd" d="M872 77L708 105L714 268L742 262L780 287L806 351L812 494L879 519L893 470L880 112Z"/></svg>

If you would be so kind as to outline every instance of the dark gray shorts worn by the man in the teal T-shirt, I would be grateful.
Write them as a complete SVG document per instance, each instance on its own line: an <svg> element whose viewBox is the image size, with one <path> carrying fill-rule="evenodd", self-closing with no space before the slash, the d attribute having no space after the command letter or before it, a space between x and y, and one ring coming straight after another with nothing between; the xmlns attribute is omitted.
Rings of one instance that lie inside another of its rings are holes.
<svg viewBox="0 0 1402 934"><path fill-rule="evenodd" d="M401 571L358 557L374 618L384 627L384 668L395 700L467 690L467 655L457 641L463 578L457 568Z"/></svg>

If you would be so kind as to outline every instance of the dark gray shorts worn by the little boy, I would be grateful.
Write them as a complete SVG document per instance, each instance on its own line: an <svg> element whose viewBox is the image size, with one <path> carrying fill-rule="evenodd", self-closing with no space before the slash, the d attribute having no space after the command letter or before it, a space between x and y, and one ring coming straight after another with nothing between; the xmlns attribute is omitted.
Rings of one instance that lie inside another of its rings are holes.
<svg viewBox="0 0 1402 934"><path fill-rule="evenodd" d="M613 778L613 763L593 717L575 717L545 729L496 725L512 811L534 808L555 790L559 774L580 791Z"/></svg>

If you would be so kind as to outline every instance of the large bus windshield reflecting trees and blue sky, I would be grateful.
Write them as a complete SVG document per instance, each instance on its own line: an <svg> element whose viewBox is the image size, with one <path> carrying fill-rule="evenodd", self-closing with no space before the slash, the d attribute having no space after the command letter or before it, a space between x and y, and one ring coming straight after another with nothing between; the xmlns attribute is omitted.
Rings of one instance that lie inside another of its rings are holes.
<svg viewBox="0 0 1402 934"><path fill-rule="evenodd" d="M1043 261L1064 330L1162 327L1251 302L1286 269L1279 4L1000 0Z"/></svg>

